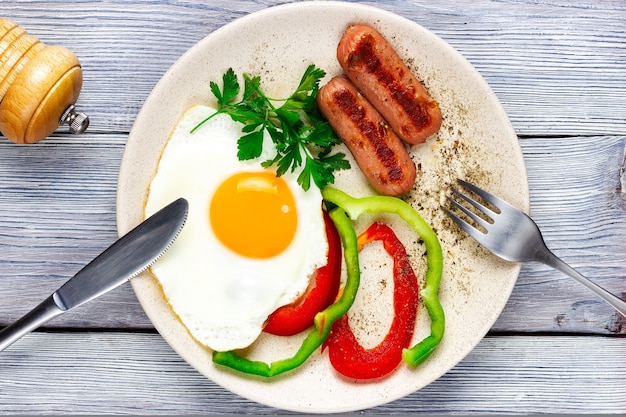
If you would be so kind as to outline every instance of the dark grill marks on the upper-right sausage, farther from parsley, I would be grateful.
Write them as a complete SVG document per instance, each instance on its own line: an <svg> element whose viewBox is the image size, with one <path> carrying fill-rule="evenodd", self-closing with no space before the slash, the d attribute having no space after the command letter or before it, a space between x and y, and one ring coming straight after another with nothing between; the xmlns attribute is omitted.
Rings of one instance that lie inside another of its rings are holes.
<svg viewBox="0 0 626 417"><path fill-rule="evenodd" d="M404 69L397 68L396 74L382 64L376 52L376 42L372 35L363 36L348 59L351 68L359 69L363 66L367 72L376 77L380 87L385 86L390 96L398 106L404 109L416 127L423 128L431 123L431 117L427 108L430 103L420 100L416 94L415 86L403 85L399 82L404 77ZM417 96L417 99L416 99Z"/></svg>

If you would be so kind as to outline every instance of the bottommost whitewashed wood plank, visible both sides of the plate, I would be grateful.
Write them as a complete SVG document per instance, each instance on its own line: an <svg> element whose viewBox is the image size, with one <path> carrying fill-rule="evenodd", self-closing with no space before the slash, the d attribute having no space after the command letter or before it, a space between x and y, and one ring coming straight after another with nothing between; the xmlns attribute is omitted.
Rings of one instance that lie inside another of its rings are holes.
<svg viewBox="0 0 626 417"><path fill-rule="evenodd" d="M364 414L621 413L625 349L624 338L487 337L433 384ZM156 334L34 333L0 359L12 415L286 413L190 370Z"/></svg>

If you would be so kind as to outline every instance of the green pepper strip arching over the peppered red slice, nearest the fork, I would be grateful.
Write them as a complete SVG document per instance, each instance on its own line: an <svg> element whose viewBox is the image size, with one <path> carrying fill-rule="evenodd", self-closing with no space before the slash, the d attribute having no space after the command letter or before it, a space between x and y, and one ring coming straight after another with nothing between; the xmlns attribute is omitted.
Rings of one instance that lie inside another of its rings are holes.
<svg viewBox="0 0 626 417"><path fill-rule="evenodd" d="M443 273L443 253L439 238L417 211L403 200L387 196L354 198L336 188L326 187L322 197L327 202L341 207L356 220L363 213L394 213L404 220L422 238L426 246L426 284L421 290L421 299L430 316L430 335L411 348L402 351L402 359L411 366L424 362L435 350L445 329L445 315L439 302L439 284Z"/></svg>

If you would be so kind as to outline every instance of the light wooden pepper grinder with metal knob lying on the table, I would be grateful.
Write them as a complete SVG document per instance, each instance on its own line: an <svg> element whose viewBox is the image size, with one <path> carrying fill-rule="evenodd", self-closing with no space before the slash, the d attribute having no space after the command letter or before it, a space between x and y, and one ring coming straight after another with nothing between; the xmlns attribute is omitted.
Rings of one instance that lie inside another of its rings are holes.
<svg viewBox="0 0 626 417"><path fill-rule="evenodd" d="M76 113L83 84L78 58L47 46L16 23L0 17L0 132L16 143L34 143L68 124L74 133L89 125Z"/></svg>

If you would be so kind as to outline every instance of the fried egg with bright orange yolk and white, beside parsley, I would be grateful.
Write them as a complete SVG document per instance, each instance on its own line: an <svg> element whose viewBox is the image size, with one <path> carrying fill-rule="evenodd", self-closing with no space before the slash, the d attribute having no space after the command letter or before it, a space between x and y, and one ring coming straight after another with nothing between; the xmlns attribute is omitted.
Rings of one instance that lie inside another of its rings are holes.
<svg viewBox="0 0 626 417"><path fill-rule="evenodd" d="M297 299L326 263L322 196L298 173L276 177L239 161L242 125L215 109L188 109L173 129L149 187L145 215L184 197L185 227L151 268L189 333L213 350L249 346L278 307ZM264 149L271 145L266 138Z"/></svg>

